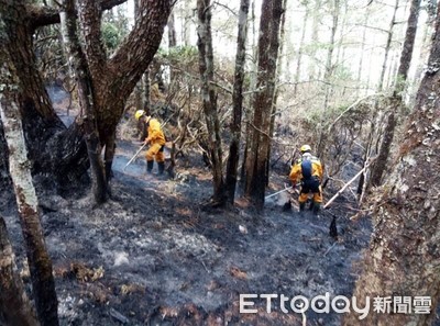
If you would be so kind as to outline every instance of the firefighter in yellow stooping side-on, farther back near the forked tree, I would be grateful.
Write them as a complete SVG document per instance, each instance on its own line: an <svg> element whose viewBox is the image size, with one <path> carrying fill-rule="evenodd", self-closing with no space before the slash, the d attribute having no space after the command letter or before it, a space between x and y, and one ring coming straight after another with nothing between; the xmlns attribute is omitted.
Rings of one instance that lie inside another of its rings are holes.
<svg viewBox="0 0 440 326"><path fill-rule="evenodd" d="M136 121L141 124L142 139L144 144L150 145L146 150L146 172L153 171L154 160L157 162L158 173L163 175L165 171L165 135L161 128L161 123L156 119L152 119L145 114L144 110L138 110L134 114Z"/></svg>

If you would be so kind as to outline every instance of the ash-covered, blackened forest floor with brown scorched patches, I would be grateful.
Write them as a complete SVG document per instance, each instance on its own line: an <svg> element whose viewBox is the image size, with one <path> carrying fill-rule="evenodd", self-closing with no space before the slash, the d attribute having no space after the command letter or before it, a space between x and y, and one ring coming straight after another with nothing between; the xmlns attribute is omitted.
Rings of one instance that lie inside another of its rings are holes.
<svg viewBox="0 0 440 326"><path fill-rule="evenodd" d="M262 214L244 200L231 210L207 209L208 170L180 167L176 180L145 177L141 157L123 172L135 149L118 147L112 199L102 206L94 209L86 193L38 190L62 325L302 325L305 317L307 325L339 325L337 313L286 314L279 300L271 314L263 299L255 300L256 314L240 314L239 295L350 297L359 272L352 263L371 235L366 217L349 220L350 196L319 216L299 215L296 195L284 212L287 193ZM270 193L283 182L275 176ZM2 192L0 200L29 284L13 196ZM333 215L338 241L329 236Z"/></svg>

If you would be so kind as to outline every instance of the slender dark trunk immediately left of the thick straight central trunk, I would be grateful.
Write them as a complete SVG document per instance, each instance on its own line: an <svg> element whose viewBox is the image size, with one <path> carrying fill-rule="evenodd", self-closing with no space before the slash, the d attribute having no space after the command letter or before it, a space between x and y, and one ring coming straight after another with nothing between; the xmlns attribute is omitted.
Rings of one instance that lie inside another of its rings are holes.
<svg viewBox="0 0 440 326"><path fill-rule="evenodd" d="M229 146L229 158L227 165L226 188L228 202L233 204L235 196L235 187L238 178L238 168L240 159L240 137L241 137L241 117L243 111L243 82L244 64L246 56L246 36L248 36L248 12L249 0L241 0L239 13L239 32L237 36L237 55L234 86L232 92L232 123L231 123L231 144Z"/></svg>

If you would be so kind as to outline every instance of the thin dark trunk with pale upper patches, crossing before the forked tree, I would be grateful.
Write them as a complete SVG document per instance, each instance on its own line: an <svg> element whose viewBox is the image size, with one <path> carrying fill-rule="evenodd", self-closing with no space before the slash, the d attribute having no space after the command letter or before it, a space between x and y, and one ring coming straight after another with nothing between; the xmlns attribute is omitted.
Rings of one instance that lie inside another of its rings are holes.
<svg viewBox="0 0 440 326"><path fill-rule="evenodd" d="M100 204L107 201L107 180L105 166L101 159L101 146L96 122L91 77L85 54L81 50L77 37L74 0L65 0L64 8L66 11L61 13L63 42L68 53L67 61L72 63L72 69L75 71L78 100L81 108L80 119L84 121L87 153L91 167L92 191L95 202ZM96 69L100 68L97 67Z"/></svg>

